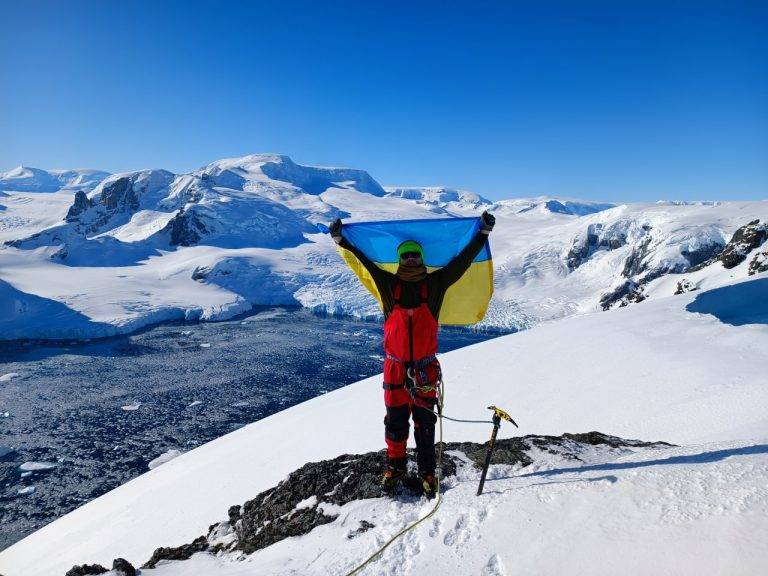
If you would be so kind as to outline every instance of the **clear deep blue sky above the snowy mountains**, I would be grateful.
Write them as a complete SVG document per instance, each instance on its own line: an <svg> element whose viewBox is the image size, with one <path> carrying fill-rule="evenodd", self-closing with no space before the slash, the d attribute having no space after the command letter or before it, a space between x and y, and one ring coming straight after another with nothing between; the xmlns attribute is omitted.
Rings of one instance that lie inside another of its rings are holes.
<svg viewBox="0 0 768 576"><path fill-rule="evenodd" d="M768 198L768 2L0 0L0 170Z"/></svg>

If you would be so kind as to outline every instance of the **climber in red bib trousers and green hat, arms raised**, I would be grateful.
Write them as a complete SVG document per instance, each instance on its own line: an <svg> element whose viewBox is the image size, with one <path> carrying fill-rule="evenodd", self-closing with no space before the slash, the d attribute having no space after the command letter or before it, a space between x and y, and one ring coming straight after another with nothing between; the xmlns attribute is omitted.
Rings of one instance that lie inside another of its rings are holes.
<svg viewBox="0 0 768 576"><path fill-rule="evenodd" d="M471 220L477 222L476 218ZM424 493L431 497L437 490L437 416L434 408L438 401L437 387L440 383L440 364L436 358L438 321L448 289L467 272L484 247L487 251L488 234L496 220L488 212L483 212L479 220L479 228L474 228L477 233L463 249L432 272L427 271L424 249L416 240L407 239L397 245L397 268L393 273L378 266L348 237L342 236L340 219L336 219L330 226L334 241L340 248L351 252L369 275L373 285L368 285L368 288L378 293L374 292L374 295L378 297L384 313L387 469L382 478L382 487L387 491L398 486L406 476L406 444L411 417ZM348 257L345 256L345 259L350 263ZM487 264L491 274L490 298L492 267L490 261ZM485 308L482 310L484 312Z"/></svg>

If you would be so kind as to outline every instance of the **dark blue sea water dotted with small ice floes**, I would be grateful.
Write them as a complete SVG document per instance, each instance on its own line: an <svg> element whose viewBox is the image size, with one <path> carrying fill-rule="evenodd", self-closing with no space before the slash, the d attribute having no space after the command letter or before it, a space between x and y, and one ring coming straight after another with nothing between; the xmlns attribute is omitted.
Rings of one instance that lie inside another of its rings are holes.
<svg viewBox="0 0 768 576"><path fill-rule="evenodd" d="M492 336L442 329L440 351ZM377 323L259 308L93 342L0 343L0 379L18 374L0 381L0 550L168 450L381 372L381 341Z"/></svg>

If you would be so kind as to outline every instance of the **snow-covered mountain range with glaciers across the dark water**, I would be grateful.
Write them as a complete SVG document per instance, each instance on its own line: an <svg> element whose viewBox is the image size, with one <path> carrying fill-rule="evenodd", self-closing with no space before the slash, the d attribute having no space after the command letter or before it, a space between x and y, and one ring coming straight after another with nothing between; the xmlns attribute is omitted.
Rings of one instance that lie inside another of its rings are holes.
<svg viewBox="0 0 768 576"><path fill-rule="evenodd" d="M16 176L0 198L0 339L106 336L160 320L229 318L253 304L378 316L315 227L336 217L493 212L495 296L482 326L506 330L671 294L683 278L670 288L662 277L710 263L696 273L706 287L723 269L713 258L755 219L758 241L745 257L753 270L765 258L768 202L491 202L445 188L385 189L362 170L270 154L189 174L114 174L74 195L69 184L51 194L11 190L7 182L26 182L27 172L45 179L32 169L6 173Z"/></svg>

